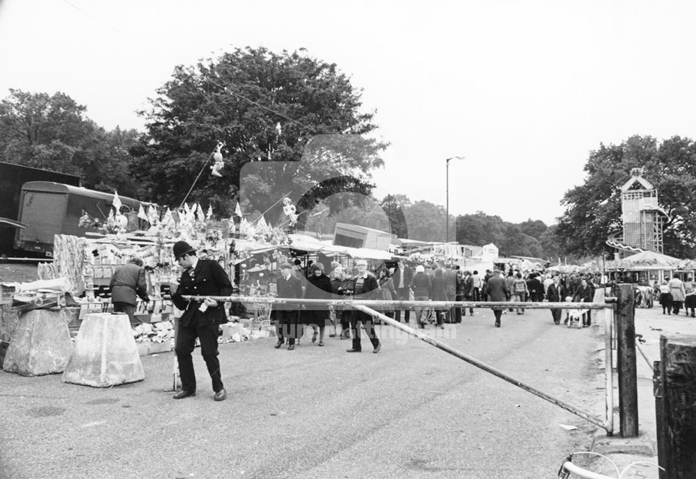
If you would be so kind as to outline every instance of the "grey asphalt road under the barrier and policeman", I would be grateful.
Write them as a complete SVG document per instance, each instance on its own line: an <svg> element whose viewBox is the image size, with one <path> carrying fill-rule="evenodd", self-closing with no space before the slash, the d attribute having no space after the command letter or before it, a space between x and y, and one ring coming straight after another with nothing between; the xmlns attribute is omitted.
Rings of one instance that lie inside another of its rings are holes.
<svg viewBox="0 0 696 479"><path fill-rule="evenodd" d="M427 331L603 414L596 327L555 326L537 310L498 329L478 309ZM166 391L173 353L143 357L143 382L110 389L0 372L0 478L554 478L596 430L418 339L379 334L377 355L365 339L360 354L309 336L294 351L272 338L221 345L221 403L199 350L185 400Z"/></svg>

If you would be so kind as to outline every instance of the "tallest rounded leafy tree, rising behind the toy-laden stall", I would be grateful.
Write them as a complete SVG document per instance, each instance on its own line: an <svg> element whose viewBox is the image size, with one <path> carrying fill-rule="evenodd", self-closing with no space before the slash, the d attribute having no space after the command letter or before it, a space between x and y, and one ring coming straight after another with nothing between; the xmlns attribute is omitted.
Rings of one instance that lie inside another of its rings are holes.
<svg viewBox="0 0 696 479"><path fill-rule="evenodd" d="M278 184L308 191L294 198L305 210L337 191L369 194L370 171L382 165L379 152L386 144L367 138L377 126L374 113L361 106L361 90L335 64L303 50L278 54L238 48L175 68L141 112L147 131L131 150L137 159L132 171L155 200L179 204L203 170L190 199L213 204L221 213L232 211L240 172L252 161L306 160L300 170L261 168L246 175L245 211L263 212L262 200L285 194ZM361 139L310 142L337 133ZM219 141L226 145L226 165L223 177L213 177L204 165L212 164L210 154Z"/></svg>

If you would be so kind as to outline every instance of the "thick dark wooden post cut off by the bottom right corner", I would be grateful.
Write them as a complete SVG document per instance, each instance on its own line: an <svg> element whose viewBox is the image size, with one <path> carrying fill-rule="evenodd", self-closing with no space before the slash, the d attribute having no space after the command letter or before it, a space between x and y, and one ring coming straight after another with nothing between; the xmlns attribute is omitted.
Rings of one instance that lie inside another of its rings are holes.
<svg viewBox="0 0 696 479"><path fill-rule="evenodd" d="M663 334L666 479L696 478L696 336Z"/></svg>

